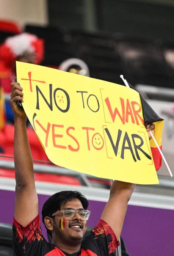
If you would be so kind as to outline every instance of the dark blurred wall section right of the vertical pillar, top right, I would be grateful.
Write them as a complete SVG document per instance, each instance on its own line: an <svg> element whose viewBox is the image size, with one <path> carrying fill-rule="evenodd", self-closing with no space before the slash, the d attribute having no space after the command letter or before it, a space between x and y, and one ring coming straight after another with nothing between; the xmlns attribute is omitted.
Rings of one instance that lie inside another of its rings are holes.
<svg viewBox="0 0 174 256"><path fill-rule="evenodd" d="M101 29L174 40L174 7L130 0L99 2Z"/></svg>

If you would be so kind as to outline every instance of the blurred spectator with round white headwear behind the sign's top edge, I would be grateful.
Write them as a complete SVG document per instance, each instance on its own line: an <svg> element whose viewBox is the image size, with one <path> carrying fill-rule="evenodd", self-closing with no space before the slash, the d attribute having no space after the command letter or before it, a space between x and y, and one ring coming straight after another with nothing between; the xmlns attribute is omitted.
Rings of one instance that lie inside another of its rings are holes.
<svg viewBox="0 0 174 256"><path fill-rule="evenodd" d="M70 58L63 61L60 64L59 69L74 74L85 75L87 77L90 76L88 66L83 60L80 60L78 58Z"/></svg>

